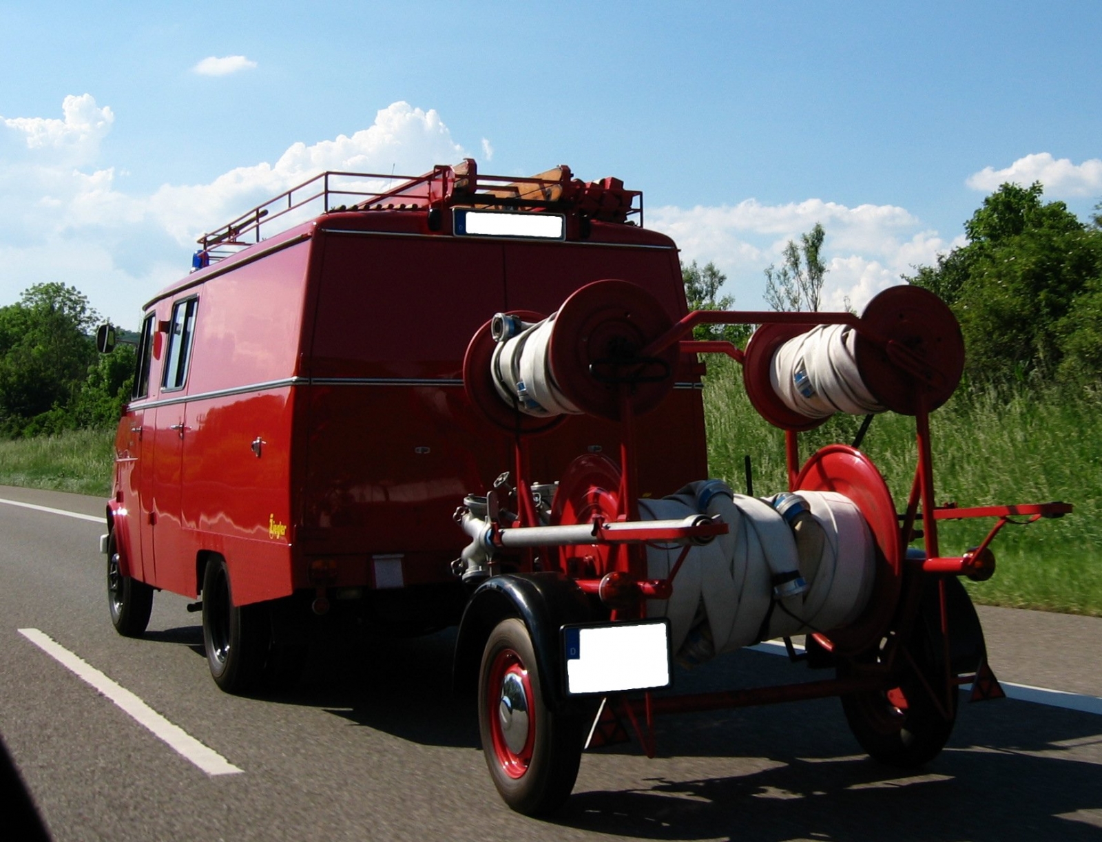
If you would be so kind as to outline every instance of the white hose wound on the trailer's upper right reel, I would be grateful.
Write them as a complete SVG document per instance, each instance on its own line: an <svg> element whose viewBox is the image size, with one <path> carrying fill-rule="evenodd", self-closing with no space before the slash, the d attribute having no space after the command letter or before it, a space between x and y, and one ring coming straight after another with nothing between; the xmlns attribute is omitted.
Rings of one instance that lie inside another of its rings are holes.
<svg viewBox="0 0 1102 842"><path fill-rule="evenodd" d="M857 371L857 332L850 325L819 325L789 339L774 354L769 379L793 412L827 418L835 412L865 415L883 412Z"/></svg>

